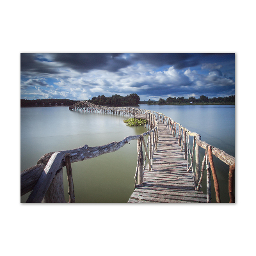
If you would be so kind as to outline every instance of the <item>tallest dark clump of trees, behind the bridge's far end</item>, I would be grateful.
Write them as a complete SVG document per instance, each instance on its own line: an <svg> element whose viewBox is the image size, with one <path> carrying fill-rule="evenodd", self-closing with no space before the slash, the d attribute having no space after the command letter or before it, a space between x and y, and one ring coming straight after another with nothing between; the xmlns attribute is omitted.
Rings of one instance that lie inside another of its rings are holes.
<svg viewBox="0 0 256 256"><path fill-rule="evenodd" d="M138 106L140 104L140 97L136 93L127 96L115 94L110 97L99 95L98 97L92 97L88 102L100 106Z"/></svg>

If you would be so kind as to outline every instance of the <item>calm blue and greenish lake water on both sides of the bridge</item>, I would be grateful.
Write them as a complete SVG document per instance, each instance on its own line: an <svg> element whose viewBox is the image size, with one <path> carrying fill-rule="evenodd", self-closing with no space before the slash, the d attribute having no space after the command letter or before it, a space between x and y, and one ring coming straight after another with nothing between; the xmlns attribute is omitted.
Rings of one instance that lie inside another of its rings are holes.
<svg viewBox="0 0 256 256"><path fill-rule="evenodd" d="M169 116L210 145L235 156L234 106L148 106ZM126 116L70 111L68 107L20 109L20 169L36 164L47 152L69 150L84 144L95 147L141 134L144 127L128 127ZM193 145L193 144L192 144ZM201 151L201 161L204 156ZM136 140L120 150L93 159L72 163L76 202L127 202L134 189ZM214 157L220 183L221 202L228 202L228 166ZM67 174L63 168L65 199L68 201ZM205 177L202 190L206 191ZM29 193L20 202L26 202ZM212 202L215 202L212 181Z"/></svg>

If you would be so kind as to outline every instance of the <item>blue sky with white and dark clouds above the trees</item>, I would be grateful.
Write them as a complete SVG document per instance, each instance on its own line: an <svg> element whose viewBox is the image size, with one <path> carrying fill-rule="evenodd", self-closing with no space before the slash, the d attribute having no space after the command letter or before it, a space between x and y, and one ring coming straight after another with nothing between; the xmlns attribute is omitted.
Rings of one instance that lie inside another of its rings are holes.
<svg viewBox="0 0 256 256"><path fill-rule="evenodd" d="M20 54L21 99L130 93L141 100L234 95L235 54Z"/></svg>

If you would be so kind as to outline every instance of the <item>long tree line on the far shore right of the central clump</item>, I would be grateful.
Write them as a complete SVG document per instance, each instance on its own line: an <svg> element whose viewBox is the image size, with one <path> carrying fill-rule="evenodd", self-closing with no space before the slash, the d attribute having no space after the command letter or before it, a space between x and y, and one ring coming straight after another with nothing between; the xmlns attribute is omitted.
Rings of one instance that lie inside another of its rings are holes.
<svg viewBox="0 0 256 256"><path fill-rule="evenodd" d="M207 96L201 95L200 98L189 97L185 99L184 97L169 97L166 100L160 98L158 101L148 100L141 101L140 104L148 105L178 105L178 104L235 104L235 95L230 95L228 97L214 97L208 98Z"/></svg>

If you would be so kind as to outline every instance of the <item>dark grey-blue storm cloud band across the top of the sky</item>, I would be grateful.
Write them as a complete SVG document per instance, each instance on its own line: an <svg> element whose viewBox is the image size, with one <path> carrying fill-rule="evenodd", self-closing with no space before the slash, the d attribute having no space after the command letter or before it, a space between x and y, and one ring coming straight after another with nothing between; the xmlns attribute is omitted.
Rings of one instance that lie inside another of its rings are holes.
<svg viewBox="0 0 256 256"><path fill-rule="evenodd" d="M51 56L52 65L44 54L20 54L20 71L27 72L27 74L29 72L59 74L58 68L71 68L80 73L90 70L118 72L121 68L136 63L150 64L155 67L168 65L180 70L195 67L207 63L207 61L212 63L212 61L234 60L234 54L217 53L136 53L131 56L127 54L127 58L122 58L122 53L56 53L47 55Z"/></svg>

